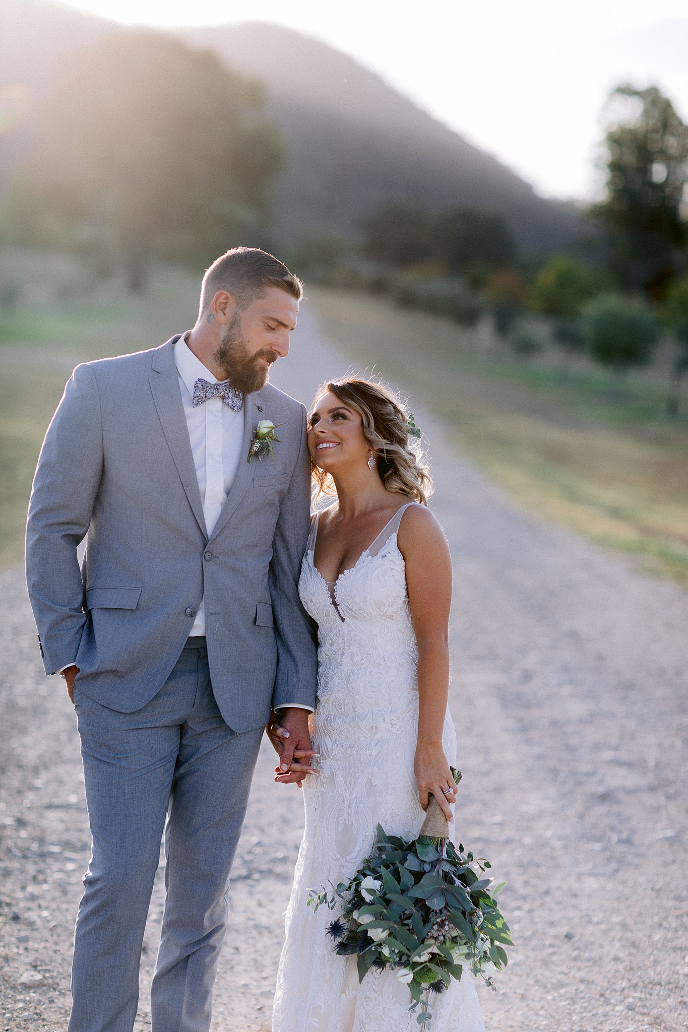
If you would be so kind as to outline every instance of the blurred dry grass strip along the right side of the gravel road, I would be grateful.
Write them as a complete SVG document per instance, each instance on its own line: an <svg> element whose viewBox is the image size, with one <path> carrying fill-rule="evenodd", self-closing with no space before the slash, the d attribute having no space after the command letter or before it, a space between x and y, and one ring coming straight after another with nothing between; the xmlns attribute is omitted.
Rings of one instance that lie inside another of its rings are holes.
<svg viewBox="0 0 688 1032"><path fill-rule="evenodd" d="M552 355L519 361L486 331L366 296L308 296L347 354L422 397L518 503L688 584L688 419L664 421L663 369L631 377L614 405L585 362L564 380Z"/></svg>

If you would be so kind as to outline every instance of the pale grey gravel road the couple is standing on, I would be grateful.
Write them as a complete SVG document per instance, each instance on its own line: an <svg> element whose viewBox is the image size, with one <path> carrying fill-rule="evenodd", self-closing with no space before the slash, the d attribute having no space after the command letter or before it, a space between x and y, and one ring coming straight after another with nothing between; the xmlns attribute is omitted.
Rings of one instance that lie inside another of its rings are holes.
<svg viewBox="0 0 688 1032"><path fill-rule="evenodd" d="M304 312L274 382L307 402L347 367ZM497 992L480 990L488 1032L688 1029L688 594L516 509L413 402L454 560L457 828L509 880L516 947ZM42 675L17 570L0 576L0 1029L62 1032L87 813L74 715ZM270 1028L302 827L298 791L274 785L272 765L265 747L216 1032ZM161 884L136 1032L150 1029Z"/></svg>

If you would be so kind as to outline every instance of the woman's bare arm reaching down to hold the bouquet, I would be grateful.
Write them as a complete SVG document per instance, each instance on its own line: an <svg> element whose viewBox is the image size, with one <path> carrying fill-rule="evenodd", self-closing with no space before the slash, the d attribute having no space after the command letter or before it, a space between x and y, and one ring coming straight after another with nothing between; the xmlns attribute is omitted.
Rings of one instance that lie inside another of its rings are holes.
<svg viewBox="0 0 688 1032"><path fill-rule="evenodd" d="M455 785L441 735L449 694L452 560L439 523L420 506L403 514L397 542L406 567L408 604L418 641L418 791L423 809L427 809L432 794L451 820L449 804L454 802ZM446 788L452 789L451 795L443 791Z"/></svg>

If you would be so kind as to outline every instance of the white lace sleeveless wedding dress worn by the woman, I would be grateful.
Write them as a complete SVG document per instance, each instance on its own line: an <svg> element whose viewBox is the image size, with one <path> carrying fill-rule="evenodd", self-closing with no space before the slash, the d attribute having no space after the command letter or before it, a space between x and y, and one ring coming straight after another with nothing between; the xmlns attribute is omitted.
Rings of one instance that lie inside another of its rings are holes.
<svg viewBox="0 0 688 1032"><path fill-rule="evenodd" d="M417 1012L408 1012L408 988L389 970L370 971L359 985L356 958L337 956L325 934L338 911L306 906L310 889L349 880L370 853L378 824L406 840L423 824L414 775L418 647L396 544L407 508L334 584L314 563L314 517L299 594L319 628L319 774L303 784L305 831L287 910L272 1032L418 1030ZM449 714L443 745L455 763ZM446 993L432 993L431 1002L432 1032L485 1032L467 973Z"/></svg>

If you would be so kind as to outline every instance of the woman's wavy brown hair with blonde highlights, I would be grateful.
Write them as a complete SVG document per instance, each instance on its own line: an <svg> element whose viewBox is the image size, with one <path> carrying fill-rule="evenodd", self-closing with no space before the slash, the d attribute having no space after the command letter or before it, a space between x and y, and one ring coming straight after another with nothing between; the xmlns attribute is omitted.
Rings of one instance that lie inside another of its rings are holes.
<svg viewBox="0 0 688 1032"><path fill-rule="evenodd" d="M432 493L432 479L399 395L380 381L345 377L324 383L316 394L314 407L327 393L334 394L360 415L363 437L375 456L378 472L387 490L407 494L414 502L426 506ZM316 498L336 493L330 475L313 461L310 465Z"/></svg>

